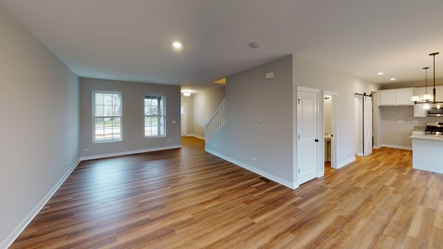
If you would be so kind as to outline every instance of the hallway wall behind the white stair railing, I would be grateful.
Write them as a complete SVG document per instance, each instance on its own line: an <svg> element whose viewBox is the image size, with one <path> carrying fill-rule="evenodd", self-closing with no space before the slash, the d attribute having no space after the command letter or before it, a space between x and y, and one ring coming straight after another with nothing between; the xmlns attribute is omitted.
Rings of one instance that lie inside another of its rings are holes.
<svg viewBox="0 0 443 249"><path fill-rule="evenodd" d="M192 94L192 113L194 118L192 122L192 133L194 135L200 137L205 136L205 124L209 122L224 98L224 86Z"/></svg>

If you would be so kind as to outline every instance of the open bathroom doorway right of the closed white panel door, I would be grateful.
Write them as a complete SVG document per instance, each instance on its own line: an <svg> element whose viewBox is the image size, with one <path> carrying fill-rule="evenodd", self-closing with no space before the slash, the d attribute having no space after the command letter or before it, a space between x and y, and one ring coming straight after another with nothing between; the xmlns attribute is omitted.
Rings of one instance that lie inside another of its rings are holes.
<svg viewBox="0 0 443 249"><path fill-rule="evenodd" d="M337 166L338 93L323 91L323 162L325 173Z"/></svg>

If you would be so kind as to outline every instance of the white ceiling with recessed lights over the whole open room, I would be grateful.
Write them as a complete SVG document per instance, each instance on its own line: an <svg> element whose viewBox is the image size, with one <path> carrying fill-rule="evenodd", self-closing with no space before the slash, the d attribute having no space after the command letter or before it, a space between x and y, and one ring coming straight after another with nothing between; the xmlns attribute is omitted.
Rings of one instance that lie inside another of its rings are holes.
<svg viewBox="0 0 443 249"><path fill-rule="evenodd" d="M442 0L0 0L0 6L82 77L211 85L295 53L372 82L406 82L423 80L432 52L442 52L436 63L443 77ZM171 46L176 40L180 52Z"/></svg>

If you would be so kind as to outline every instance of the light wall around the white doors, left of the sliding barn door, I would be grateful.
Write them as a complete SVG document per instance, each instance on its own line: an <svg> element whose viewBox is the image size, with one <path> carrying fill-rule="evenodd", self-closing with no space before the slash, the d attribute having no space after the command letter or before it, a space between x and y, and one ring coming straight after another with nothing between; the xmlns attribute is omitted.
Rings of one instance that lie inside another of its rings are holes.
<svg viewBox="0 0 443 249"><path fill-rule="evenodd" d="M293 85L294 88L306 86L338 92L338 134L334 134L338 143L338 166L348 163L354 158L355 149L354 93L369 94L379 89L379 85L296 55L293 56ZM323 122L322 114L320 113L320 123ZM320 154L324 153L323 146L320 150ZM347 156L348 152L351 154L350 157Z"/></svg>

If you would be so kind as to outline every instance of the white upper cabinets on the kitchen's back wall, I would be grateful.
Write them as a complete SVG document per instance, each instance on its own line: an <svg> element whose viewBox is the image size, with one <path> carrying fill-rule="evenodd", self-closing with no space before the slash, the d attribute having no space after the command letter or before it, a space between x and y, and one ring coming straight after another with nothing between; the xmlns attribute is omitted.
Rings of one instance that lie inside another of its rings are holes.
<svg viewBox="0 0 443 249"><path fill-rule="evenodd" d="M380 106L405 106L413 105L411 101L414 94L413 88L407 89L390 89L379 91Z"/></svg>

